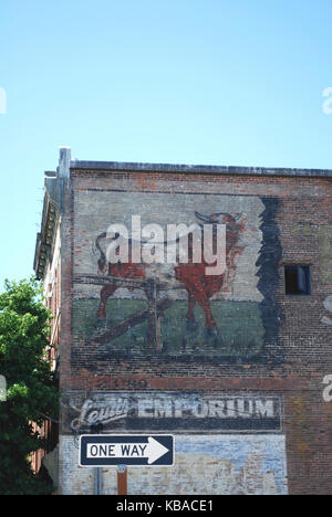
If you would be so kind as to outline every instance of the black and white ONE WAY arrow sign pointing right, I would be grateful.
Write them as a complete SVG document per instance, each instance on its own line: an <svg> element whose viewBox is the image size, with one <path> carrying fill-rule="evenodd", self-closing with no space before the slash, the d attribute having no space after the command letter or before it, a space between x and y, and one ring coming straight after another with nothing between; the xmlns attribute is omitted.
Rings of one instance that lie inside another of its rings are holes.
<svg viewBox="0 0 332 517"><path fill-rule="evenodd" d="M174 436L170 434L84 434L80 436L80 465L172 466Z"/></svg>

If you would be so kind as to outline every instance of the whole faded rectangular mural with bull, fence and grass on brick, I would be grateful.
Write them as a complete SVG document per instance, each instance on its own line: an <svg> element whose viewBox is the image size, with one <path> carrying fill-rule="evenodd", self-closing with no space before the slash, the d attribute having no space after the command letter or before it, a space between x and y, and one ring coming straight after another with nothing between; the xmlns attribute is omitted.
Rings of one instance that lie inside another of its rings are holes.
<svg viewBox="0 0 332 517"><path fill-rule="evenodd" d="M74 232L73 337L77 347L73 357L80 357L84 345L94 347L98 359L105 361L151 355L165 360L195 357L229 361L262 356L264 344L276 338L280 321L274 302L280 257L274 199L112 191L75 196L80 219ZM131 228L132 217L139 215L142 225L190 225L197 223L197 212L205 217L222 212L230 225L229 235L237 229L222 277L208 279L195 265L170 264L156 264L148 278L142 268L139 274L133 273L128 265L113 266L97 277L102 246L106 244L101 240L96 249L95 243L110 224ZM246 214L241 228L232 222L239 214ZM169 267L176 273L172 283ZM116 288L111 277L116 278Z"/></svg>

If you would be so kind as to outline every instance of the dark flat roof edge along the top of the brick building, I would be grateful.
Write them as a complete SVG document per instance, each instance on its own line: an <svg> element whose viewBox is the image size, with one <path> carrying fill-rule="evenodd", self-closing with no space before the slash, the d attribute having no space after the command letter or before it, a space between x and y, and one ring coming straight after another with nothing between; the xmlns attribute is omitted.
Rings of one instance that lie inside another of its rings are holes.
<svg viewBox="0 0 332 517"><path fill-rule="evenodd" d="M260 177L301 177L332 178L332 169L287 169L264 167L225 167L177 163L142 163L126 161L81 161L72 160L71 170L131 171L131 172L169 172L199 173L216 176L260 176Z"/></svg>

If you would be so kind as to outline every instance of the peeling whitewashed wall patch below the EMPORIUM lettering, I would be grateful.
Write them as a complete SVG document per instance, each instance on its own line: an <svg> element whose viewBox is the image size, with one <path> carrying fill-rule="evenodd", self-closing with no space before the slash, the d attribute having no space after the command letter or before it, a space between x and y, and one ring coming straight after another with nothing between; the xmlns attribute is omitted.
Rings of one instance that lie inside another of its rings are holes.
<svg viewBox="0 0 332 517"><path fill-rule="evenodd" d="M72 436L61 436L64 495L93 493L93 469L79 467ZM102 493L115 495L116 468L103 468ZM128 495L287 495L284 435L175 435L173 467L128 467Z"/></svg>

